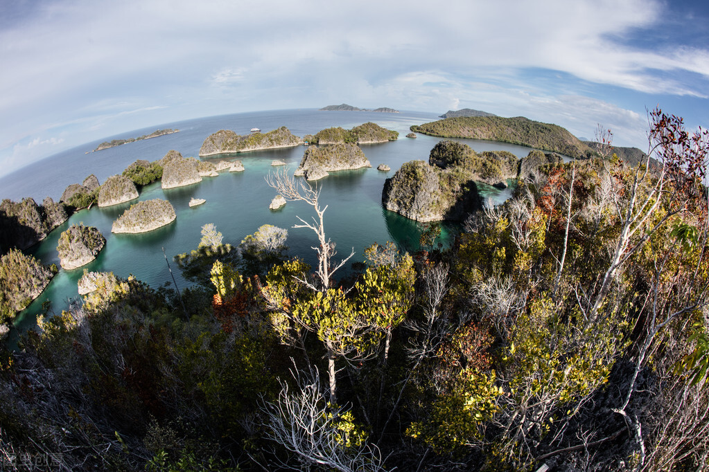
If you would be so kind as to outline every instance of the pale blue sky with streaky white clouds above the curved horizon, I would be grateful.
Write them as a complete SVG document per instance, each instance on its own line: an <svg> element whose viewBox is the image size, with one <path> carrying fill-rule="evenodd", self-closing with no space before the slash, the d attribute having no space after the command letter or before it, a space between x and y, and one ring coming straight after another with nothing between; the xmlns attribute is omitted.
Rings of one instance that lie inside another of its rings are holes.
<svg viewBox="0 0 709 472"><path fill-rule="evenodd" d="M647 148L709 127L709 2L2 0L0 175L194 117L349 103L526 116Z"/></svg>

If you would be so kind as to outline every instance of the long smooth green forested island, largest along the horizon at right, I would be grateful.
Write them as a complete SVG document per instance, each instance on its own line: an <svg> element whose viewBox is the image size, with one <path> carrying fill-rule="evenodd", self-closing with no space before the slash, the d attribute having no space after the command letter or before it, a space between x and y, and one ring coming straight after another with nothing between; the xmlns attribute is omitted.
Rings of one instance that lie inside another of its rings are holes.
<svg viewBox="0 0 709 472"><path fill-rule="evenodd" d="M411 131L446 138L486 139L558 152L585 159L595 155L586 144L558 125L525 117L457 117L413 125Z"/></svg>

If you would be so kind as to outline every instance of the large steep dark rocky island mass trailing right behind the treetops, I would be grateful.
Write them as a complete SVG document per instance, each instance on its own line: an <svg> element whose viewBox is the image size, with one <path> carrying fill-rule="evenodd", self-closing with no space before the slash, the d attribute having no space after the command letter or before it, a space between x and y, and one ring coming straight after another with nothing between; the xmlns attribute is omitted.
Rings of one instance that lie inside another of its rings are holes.
<svg viewBox="0 0 709 472"><path fill-rule="evenodd" d="M477 183L504 188L507 179L524 179L560 163L561 156L542 151L518 160L508 151L476 153L467 144L442 141L431 150L428 163L404 163L386 179L381 202L416 221L462 221L483 207Z"/></svg>

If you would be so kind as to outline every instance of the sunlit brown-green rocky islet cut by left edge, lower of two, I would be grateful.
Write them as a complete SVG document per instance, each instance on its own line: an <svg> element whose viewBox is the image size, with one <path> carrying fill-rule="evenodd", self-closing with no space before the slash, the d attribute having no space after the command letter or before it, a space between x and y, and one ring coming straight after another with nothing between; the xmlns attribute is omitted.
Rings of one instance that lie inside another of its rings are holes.
<svg viewBox="0 0 709 472"><path fill-rule="evenodd" d="M0 323L25 309L47 287L56 266L45 267L31 255L11 249L0 258Z"/></svg>

